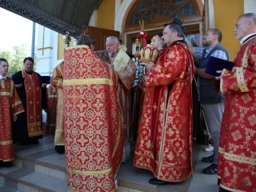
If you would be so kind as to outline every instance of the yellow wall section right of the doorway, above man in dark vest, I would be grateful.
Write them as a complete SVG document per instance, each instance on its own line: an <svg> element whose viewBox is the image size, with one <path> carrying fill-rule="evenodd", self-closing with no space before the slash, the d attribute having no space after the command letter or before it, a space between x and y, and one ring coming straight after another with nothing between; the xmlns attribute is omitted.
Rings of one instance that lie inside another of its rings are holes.
<svg viewBox="0 0 256 192"><path fill-rule="evenodd" d="M244 13L242 0L214 0L214 27L222 31L222 46L230 54L230 61L238 53L240 44L234 37L234 25L237 18Z"/></svg>

